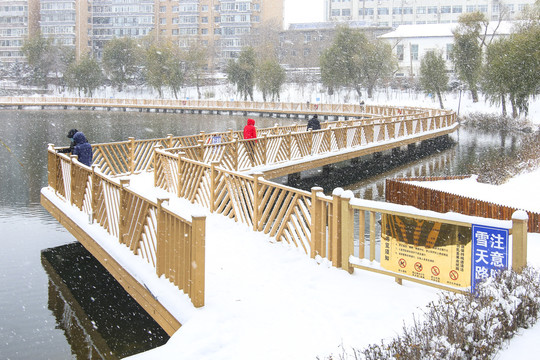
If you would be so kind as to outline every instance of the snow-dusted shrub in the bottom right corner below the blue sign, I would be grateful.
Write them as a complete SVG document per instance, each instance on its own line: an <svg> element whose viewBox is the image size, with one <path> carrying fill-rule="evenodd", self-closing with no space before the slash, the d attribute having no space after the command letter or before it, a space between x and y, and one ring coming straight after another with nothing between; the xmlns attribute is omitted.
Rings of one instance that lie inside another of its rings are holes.
<svg viewBox="0 0 540 360"><path fill-rule="evenodd" d="M519 328L539 316L540 274L507 270L480 283L475 294L441 294L403 334L353 351L354 359L492 359ZM341 359L347 355L341 354Z"/></svg>

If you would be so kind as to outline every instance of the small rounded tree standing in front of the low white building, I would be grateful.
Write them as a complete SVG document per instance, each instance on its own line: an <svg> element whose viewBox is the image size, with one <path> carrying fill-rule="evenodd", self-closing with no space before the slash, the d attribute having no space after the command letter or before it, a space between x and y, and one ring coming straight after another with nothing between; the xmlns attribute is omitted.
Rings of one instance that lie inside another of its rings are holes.
<svg viewBox="0 0 540 360"><path fill-rule="evenodd" d="M445 61L440 52L426 52L420 62L420 85L426 94L436 94L441 109L444 109L442 93L448 87Z"/></svg>

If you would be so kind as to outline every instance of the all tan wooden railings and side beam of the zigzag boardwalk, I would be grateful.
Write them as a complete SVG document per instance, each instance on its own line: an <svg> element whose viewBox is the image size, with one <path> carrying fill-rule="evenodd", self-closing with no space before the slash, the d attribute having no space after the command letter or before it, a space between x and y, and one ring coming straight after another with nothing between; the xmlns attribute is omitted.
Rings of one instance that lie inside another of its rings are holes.
<svg viewBox="0 0 540 360"><path fill-rule="evenodd" d="M301 109L304 105L287 107ZM244 111L256 107L252 104ZM276 111L275 107L265 107ZM363 112L366 109L370 111ZM470 227L473 218L456 221L444 214L410 213L410 208L400 205L389 209L384 203L373 201L354 199L353 203L349 194L340 191L326 196L322 188L309 192L267 180L308 166L439 138L458 126L453 112L437 109L351 105L341 106L341 110L337 112L339 116L347 114L352 120L323 122L318 131L305 131L304 126L297 125L258 129L256 141L243 139L239 131L227 131L93 144L92 167L56 152L54 145L50 145L49 186L42 191L42 203L168 333L180 324L167 309L143 285L122 272L91 233L55 204L63 201L75 206L92 226L105 229L133 256L151 264L155 276L165 276L189 295L195 306L204 305L204 218L185 219L177 215L166 205L166 199L146 199L131 190L129 183L122 180L124 177L152 172L154 186L166 190L171 197L188 199L277 241L293 244L310 257L327 258L336 267L372 270L399 281L407 279L459 291L445 284L371 269L363 260L373 261L380 256L375 244L381 240L376 234L385 226L378 221L382 215L464 227ZM361 219L362 226L355 219ZM515 233L523 233L523 228L516 225ZM369 249L369 256L364 249ZM522 251L515 250L514 254L521 256ZM518 267L522 263L522 258L514 262Z"/></svg>

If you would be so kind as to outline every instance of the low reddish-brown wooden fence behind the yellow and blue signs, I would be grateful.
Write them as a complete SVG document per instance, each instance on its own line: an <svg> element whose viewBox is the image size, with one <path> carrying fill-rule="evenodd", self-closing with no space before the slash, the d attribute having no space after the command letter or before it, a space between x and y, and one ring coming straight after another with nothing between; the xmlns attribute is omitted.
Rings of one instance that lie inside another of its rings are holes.
<svg viewBox="0 0 540 360"><path fill-rule="evenodd" d="M469 177L443 176L386 179L386 201L401 205L411 205L422 210L432 210L441 213L452 211L459 214L498 220L510 220L516 210L521 210L407 183L407 181L439 181L465 179ZM540 232L540 214L528 210L525 211L529 215L529 232Z"/></svg>

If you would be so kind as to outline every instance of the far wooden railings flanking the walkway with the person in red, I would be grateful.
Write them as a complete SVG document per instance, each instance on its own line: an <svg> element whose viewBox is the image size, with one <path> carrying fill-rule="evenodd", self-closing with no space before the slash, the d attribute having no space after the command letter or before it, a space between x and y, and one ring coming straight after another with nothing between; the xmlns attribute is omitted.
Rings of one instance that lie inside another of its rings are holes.
<svg viewBox="0 0 540 360"><path fill-rule="evenodd" d="M377 112L391 112L388 107ZM398 109L399 110L399 109ZM398 110L393 112L398 113ZM258 139L244 140L242 131L94 144L93 163L105 175L121 175L151 170L153 148L162 146L172 153L205 163L217 161L229 170L246 170L260 165L300 159L354 149L385 141L452 129L454 113L430 109L405 109L402 114L370 119L323 122L322 129L306 131L305 125L275 126L258 129Z"/></svg>

